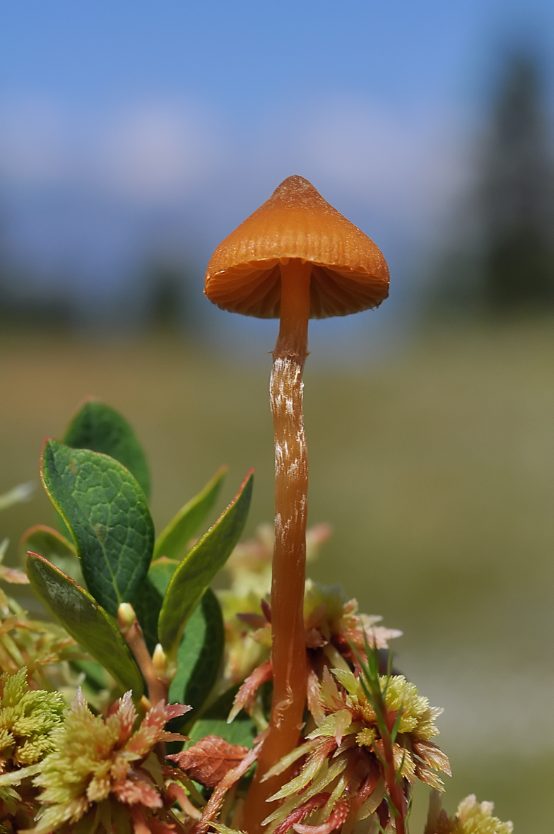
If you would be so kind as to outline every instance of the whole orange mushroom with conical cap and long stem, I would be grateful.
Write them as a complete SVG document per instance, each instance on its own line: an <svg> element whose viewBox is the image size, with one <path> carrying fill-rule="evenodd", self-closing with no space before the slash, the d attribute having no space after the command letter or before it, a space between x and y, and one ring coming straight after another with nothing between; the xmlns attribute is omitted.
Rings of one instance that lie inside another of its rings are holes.
<svg viewBox="0 0 554 834"><path fill-rule="evenodd" d="M308 460L302 372L308 320L377 307L389 270L375 244L321 197L308 180L285 179L260 208L219 244L204 292L220 308L280 318L269 385L275 436L275 543L271 585L274 694L245 807L259 831L277 789L264 773L298 743L305 707L305 525ZM286 777L286 774L283 778Z"/></svg>

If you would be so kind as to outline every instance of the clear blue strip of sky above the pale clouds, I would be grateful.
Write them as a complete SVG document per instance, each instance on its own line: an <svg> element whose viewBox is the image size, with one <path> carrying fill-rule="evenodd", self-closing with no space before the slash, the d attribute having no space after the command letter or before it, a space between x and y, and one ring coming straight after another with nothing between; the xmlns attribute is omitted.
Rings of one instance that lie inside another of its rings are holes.
<svg viewBox="0 0 554 834"><path fill-rule="evenodd" d="M1 16L8 95L192 95L246 119L322 88L410 108L463 98L491 48L554 24L541 0L26 0Z"/></svg>

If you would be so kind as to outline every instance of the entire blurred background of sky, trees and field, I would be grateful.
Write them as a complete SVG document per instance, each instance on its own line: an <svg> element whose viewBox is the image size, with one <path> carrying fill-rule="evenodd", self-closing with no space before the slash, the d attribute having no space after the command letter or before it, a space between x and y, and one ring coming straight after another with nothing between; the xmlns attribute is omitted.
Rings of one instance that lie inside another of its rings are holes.
<svg viewBox="0 0 554 834"><path fill-rule="evenodd" d="M157 525L224 462L227 500L256 466L249 535L270 520L277 325L201 290L300 173L391 271L381 309L311 327L310 521L335 530L311 574L405 631L446 806L550 834L554 5L27 0L0 24L0 492L37 484L10 560L88 394L143 440Z"/></svg>

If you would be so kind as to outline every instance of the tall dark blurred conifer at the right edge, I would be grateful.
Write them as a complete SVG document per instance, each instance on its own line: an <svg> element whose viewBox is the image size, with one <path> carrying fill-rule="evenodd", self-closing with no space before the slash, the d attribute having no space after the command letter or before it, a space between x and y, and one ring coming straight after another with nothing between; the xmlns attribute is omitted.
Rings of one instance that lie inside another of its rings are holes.
<svg viewBox="0 0 554 834"><path fill-rule="evenodd" d="M554 177L539 63L513 55L487 137L478 194L484 300L493 312L554 306Z"/></svg>

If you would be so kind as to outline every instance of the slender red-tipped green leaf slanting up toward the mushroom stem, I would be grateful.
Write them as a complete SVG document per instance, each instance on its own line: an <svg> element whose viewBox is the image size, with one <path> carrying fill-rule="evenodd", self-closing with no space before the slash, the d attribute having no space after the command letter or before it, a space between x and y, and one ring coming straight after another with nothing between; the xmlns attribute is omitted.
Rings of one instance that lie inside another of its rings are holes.
<svg viewBox="0 0 554 834"><path fill-rule="evenodd" d="M164 651L174 660L189 616L244 530L253 480L254 475L249 472L234 500L180 562L169 583L159 615L158 634Z"/></svg>

